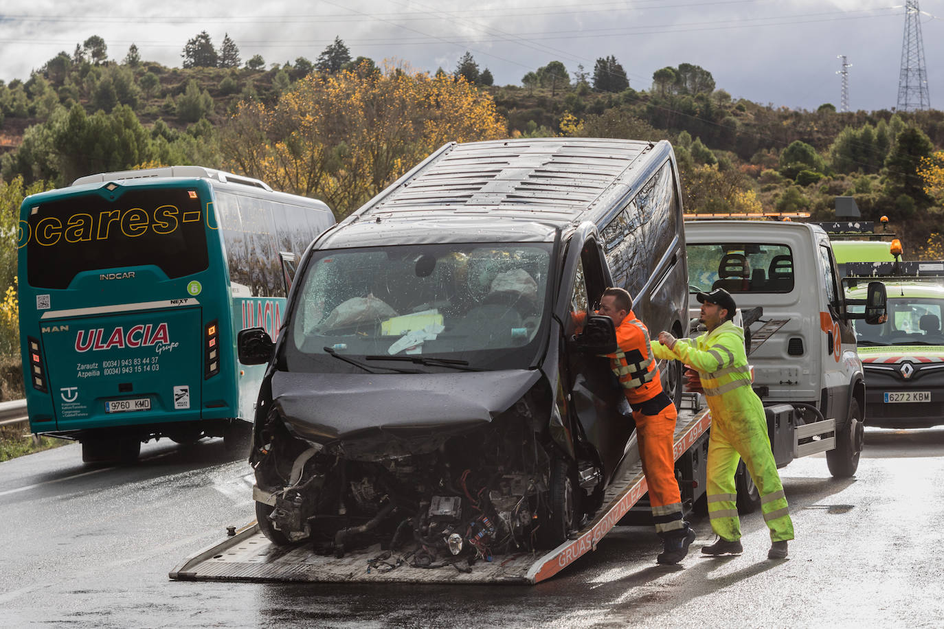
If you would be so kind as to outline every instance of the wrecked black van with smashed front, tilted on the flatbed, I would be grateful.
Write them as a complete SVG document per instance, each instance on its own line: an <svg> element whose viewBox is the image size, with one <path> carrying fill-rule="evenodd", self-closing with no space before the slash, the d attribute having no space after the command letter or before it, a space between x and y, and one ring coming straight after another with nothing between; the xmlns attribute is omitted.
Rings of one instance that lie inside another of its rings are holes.
<svg viewBox="0 0 944 629"><path fill-rule="evenodd" d="M681 335L678 182L665 141L452 143L315 240L278 343L239 339L269 362L250 455L265 536L409 545L420 566L564 541L632 438L574 314L623 286Z"/></svg>

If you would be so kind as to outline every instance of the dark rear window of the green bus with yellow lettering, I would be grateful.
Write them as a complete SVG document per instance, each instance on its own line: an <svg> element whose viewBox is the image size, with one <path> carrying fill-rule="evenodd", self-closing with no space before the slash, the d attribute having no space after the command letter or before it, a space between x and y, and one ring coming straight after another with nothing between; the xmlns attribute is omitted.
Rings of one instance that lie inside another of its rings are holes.
<svg viewBox="0 0 944 629"><path fill-rule="evenodd" d="M193 189L127 190L115 201L87 194L29 211L26 270L36 288L68 288L86 271L153 264L173 279L208 266L203 206Z"/></svg>

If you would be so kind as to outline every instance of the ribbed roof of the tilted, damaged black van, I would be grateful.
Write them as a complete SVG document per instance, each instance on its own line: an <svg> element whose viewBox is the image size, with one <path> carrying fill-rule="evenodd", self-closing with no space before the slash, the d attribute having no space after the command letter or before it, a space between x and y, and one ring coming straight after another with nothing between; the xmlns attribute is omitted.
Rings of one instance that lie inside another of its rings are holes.
<svg viewBox="0 0 944 629"><path fill-rule="evenodd" d="M482 217L564 226L631 191L666 141L537 138L443 146L345 223ZM645 156L645 158L644 158Z"/></svg>

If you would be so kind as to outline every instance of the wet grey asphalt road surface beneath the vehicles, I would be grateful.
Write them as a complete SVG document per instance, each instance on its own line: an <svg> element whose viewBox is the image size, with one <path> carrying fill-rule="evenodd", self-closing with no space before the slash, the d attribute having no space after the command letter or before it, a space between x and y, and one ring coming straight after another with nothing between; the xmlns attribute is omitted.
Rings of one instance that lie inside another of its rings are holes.
<svg viewBox="0 0 944 629"><path fill-rule="evenodd" d="M78 446L0 463L3 627L940 626L944 430L867 433L854 479L822 457L781 470L798 539L768 561L758 514L745 553L680 566L655 535L618 527L534 587L173 582L180 560L253 519L251 476L221 440L143 447L88 468Z"/></svg>

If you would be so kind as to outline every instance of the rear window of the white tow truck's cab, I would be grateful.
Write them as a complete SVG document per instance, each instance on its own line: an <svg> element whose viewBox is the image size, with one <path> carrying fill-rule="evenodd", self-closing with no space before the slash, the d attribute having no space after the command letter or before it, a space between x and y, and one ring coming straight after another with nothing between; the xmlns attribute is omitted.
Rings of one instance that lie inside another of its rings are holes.
<svg viewBox="0 0 944 629"><path fill-rule="evenodd" d="M793 253L785 244L733 242L685 246L689 290L790 292Z"/></svg>

